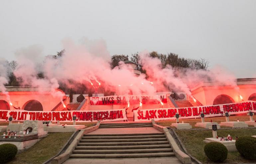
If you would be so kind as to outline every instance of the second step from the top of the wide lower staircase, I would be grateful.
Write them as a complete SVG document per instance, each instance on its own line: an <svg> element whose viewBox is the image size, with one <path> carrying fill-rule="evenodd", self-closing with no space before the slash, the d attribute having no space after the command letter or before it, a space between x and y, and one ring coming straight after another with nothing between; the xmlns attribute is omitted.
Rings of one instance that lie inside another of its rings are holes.
<svg viewBox="0 0 256 164"><path fill-rule="evenodd" d="M141 135L141 136L83 136L82 139L131 139L131 138L165 138L165 135Z"/></svg>

